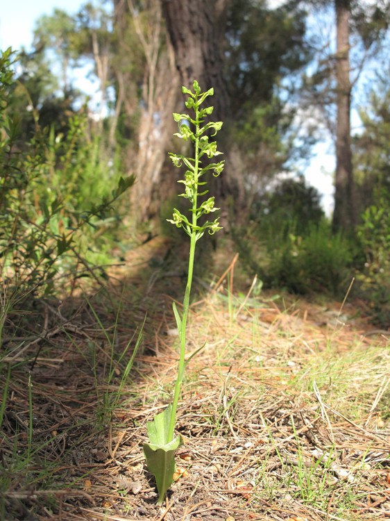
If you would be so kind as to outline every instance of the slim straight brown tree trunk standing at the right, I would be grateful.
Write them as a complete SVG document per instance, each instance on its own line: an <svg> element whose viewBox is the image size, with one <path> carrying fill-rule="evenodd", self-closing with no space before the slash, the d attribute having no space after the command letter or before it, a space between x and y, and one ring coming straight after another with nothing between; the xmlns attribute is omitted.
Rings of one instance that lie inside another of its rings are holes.
<svg viewBox="0 0 390 521"><path fill-rule="evenodd" d="M350 145L350 0L334 0L337 26L336 81L336 179L334 192L334 231L353 231L356 225L355 183Z"/></svg>

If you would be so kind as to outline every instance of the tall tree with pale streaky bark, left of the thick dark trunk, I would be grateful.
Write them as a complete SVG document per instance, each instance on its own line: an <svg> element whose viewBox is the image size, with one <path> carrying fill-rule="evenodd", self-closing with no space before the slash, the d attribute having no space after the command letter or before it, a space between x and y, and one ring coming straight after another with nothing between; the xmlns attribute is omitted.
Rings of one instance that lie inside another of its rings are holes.
<svg viewBox="0 0 390 521"><path fill-rule="evenodd" d="M114 5L117 97L128 128L133 127L135 150L129 168L137 182L132 206L135 218L143 221L155 215L166 197L162 165L174 132L178 73L160 0L115 0Z"/></svg>

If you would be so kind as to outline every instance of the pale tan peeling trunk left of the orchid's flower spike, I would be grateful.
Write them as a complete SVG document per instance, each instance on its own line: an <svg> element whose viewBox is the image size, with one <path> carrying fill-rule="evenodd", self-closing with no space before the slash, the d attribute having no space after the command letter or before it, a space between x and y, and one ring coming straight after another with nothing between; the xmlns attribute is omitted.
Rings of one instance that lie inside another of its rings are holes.
<svg viewBox="0 0 390 521"><path fill-rule="evenodd" d="M139 5L135 6L133 0L126 0L126 3L119 3L118 0L115 2L118 29L125 34L129 30L128 24L133 25L132 29L145 59L142 95L137 106L137 157L135 167L132 168L137 181L130 192L135 220L143 222L155 215L162 202L159 194L162 165L167 158L168 140L176 128L172 113L178 99L178 73L171 43L167 35L164 36L160 0L144 1L142 9ZM126 38L123 36L121 40L125 42ZM126 54L122 59L126 60ZM134 83L130 77L126 81L123 77L119 79L119 86ZM124 96L126 97L126 92ZM124 106L128 117L133 117L135 108L126 107L126 100ZM153 201L153 194L158 201Z"/></svg>

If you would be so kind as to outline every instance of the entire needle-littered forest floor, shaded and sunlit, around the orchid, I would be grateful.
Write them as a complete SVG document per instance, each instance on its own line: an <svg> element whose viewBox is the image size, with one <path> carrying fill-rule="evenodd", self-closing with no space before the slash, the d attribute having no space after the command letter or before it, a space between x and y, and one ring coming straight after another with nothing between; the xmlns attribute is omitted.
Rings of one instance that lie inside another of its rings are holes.
<svg viewBox="0 0 390 521"><path fill-rule="evenodd" d="M205 347L163 507L142 444L172 395L185 254L154 238L104 287L8 313L0 520L390 518L389 331L348 299L261 291L231 246L211 269L195 281L188 350Z"/></svg>

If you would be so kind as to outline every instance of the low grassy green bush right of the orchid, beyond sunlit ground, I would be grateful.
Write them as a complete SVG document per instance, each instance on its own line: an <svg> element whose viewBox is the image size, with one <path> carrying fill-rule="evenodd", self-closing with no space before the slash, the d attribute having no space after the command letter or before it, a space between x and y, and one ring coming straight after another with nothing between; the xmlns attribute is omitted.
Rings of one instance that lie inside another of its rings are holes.
<svg viewBox="0 0 390 521"><path fill-rule="evenodd" d="M274 229L272 220L269 215L264 217L266 222L233 230L248 269L257 273L265 286L299 294L344 295L355 273L353 242L341 234L334 235L325 219L309 224L302 235L296 233L294 221Z"/></svg>

